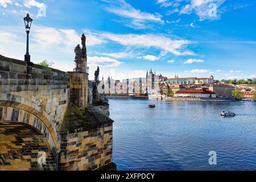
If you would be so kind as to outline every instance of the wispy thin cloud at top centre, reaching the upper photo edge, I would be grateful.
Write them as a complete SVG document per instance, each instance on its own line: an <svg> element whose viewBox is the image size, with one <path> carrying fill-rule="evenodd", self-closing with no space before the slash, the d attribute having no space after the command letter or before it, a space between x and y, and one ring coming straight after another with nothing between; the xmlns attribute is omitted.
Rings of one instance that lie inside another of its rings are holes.
<svg viewBox="0 0 256 182"><path fill-rule="evenodd" d="M135 9L133 6L125 2L125 0L119 0L115 3L115 6L110 6L106 8L110 13L122 16L123 18L131 19L131 22L125 23L126 26L135 29L144 29L147 28L145 23L147 22L156 22L164 23L162 16L159 14L150 14L142 12L141 10Z"/></svg>

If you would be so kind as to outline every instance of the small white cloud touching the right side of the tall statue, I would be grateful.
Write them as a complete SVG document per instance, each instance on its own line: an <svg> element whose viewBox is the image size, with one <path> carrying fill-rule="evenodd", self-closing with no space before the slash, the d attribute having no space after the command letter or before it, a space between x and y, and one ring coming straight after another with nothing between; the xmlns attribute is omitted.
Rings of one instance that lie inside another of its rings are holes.
<svg viewBox="0 0 256 182"><path fill-rule="evenodd" d="M89 57L88 56L88 65L92 67L118 67L122 62L112 59L110 57Z"/></svg>

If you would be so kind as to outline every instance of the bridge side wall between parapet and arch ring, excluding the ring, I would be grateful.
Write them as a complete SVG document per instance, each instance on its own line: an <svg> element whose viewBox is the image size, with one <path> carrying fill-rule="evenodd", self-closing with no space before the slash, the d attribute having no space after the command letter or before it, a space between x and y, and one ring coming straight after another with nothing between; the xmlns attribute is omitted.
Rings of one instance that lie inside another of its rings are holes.
<svg viewBox="0 0 256 182"><path fill-rule="evenodd" d="M31 68L31 69L30 69ZM69 73L0 56L0 95L10 93L42 107L58 129L68 102Z"/></svg>

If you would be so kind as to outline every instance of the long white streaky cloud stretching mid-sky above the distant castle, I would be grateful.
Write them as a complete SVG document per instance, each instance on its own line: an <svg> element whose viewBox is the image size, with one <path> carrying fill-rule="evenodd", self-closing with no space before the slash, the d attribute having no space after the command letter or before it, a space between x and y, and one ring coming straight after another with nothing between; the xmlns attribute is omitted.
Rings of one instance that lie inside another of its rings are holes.
<svg viewBox="0 0 256 182"><path fill-rule="evenodd" d="M191 42L189 40L172 40L163 35L153 34L102 34L105 38L108 38L114 42L122 44L123 46L135 46L135 47L155 47L160 48L163 51L174 53L175 55L184 55L191 52L181 52L180 49L184 48Z"/></svg>

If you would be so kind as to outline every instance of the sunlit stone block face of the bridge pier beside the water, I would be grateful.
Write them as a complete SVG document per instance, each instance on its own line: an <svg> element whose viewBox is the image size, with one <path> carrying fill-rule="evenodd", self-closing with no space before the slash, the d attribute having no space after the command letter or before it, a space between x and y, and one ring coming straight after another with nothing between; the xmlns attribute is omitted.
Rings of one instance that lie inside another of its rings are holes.
<svg viewBox="0 0 256 182"><path fill-rule="evenodd" d="M113 124L61 134L61 170L93 171L112 163Z"/></svg>

